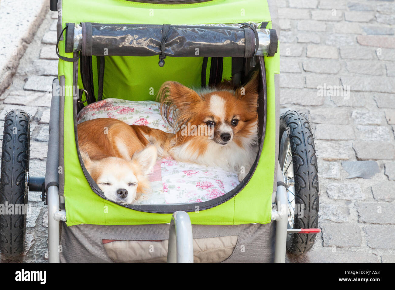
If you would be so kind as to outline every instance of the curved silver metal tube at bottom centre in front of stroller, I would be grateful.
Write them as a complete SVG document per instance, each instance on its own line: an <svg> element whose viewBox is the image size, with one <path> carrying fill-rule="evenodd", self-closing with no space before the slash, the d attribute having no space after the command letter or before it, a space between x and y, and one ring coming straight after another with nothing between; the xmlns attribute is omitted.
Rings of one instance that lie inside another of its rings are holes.
<svg viewBox="0 0 395 290"><path fill-rule="evenodd" d="M192 224L188 213L176 211L171 216L167 263L193 263Z"/></svg>

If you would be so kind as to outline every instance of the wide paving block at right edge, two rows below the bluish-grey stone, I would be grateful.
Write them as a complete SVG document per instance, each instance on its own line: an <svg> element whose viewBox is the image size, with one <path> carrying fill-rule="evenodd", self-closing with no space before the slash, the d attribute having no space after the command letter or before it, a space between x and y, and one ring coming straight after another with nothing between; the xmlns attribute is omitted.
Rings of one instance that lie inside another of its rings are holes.
<svg viewBox="0 0 395 290"><path fill-rule="evenodd" d="M359 223L395 224L395 203L359 202L357 211Z"/></svg>

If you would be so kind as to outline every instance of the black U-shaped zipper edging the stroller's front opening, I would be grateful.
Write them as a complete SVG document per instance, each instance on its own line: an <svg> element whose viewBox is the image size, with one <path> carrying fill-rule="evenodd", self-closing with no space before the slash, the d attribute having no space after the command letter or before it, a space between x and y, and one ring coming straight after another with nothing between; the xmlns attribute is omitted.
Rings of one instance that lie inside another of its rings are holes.
<svg viewBox="0 0 395 290"><path fill-rule="evenodd" d="M74 53L74 57L76 52ZM262 129L262 137L261 137L261 144L259 146L259 150L258 150L258 159L255 162L255 166L254 166L254 170L252 171L252 173L250 174L250 177L248 178L248 180L244 183L243 187L241 187L241 189L239 189L235 194L231 195L229 198L226 198L224 200L221 200L220 202L218 202L217 204L215 204L214 206L207 206L207 207L202 207L199 208L200 210L209 210L211 208L215 208L216 206L219 206L220 204L223 204L225 202L227 202L228 200L231 200L233 197L235 197L238 193L240 193L244 187L247 185L247 183L251 180L252 176L254 175L254 172L256 170L256 168L258 167L258 162L262 153L262 148L263 148L263 142L265 140L265 131L266 131L266 110L267 110L267 88L266 88L266 70L265 70L265 62L263 60L262 56L258 57L259 59L259 65L260 65L260 70L261 70L261 80L262 80L262 85L263 85L263 107L264 107L264 113L263 113L263 129ZM75 90L77 92L77 84L78 84L78 61L74 62L75 63L75 67L74 67L74 86L75 86ZM92 183L89 181L88 176L90 177L89 173L86 171L85 167L83 166L83 162L81 159L81 153L79 151L79 146L78 146L78 132L77 132L77 99L75 99L75 97L73 98L73 121L74 121L74 135L75 135L75 143L77 146L77 154L78 154L78 159L79 159L79 163L81 165L81 169L84 173L85 179L88 181L88 184L90 186L90 188L92 189L92 191L94 193L96 193L98 196L100 196L101 198L104 198L105 200L108 200L110 202L113 202L115 204L118 204L119 206L123 206L124 208L129 208L131 210L137 210L137 211L143 211L143 212L148 212L148 213L174 213L174 211L150 211L150 210L142 210L142 209L137 209L137 208L131 208L130 206L126 206L124 204L120 204L118 202L115 202L111 199L106 198L104 195L101 195L100 193L97 192L96 188L92 185ZM197 203L199 204L199 203ZM189 204L190 205L190 204ZM137 205L139 206L139 205ZM143 206L143 205L140 205ZM164 205L166 206L166 205ZM193 210L184 210L186 212L193 212L195 211L195 209Z"/></svg>

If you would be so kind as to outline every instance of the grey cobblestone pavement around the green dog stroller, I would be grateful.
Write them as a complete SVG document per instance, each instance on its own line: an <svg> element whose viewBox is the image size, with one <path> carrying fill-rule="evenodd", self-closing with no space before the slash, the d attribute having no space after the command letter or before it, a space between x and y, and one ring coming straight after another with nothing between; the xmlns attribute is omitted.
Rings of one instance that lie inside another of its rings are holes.
<svg viewBox="0 0 395 290"><path fill-rule="evenodd" d="M322 234L312 251L287 262L395 262L395 3L277 2L281 108L310 116L321 190ZM32 114L34 176L45 174L55 18L43 20L0 95L1 118L16 107ZM29 193L29 203L21 260L46 262L47 208L40 193Z"/></svg>

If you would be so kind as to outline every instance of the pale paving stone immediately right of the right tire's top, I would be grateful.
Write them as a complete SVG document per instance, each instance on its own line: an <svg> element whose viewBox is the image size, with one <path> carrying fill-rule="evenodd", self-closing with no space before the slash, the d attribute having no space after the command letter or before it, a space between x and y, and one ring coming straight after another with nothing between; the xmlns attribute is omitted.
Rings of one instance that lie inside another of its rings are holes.
<svg viewBox="0 0 395 290"><path fill-rule="evenodd" d="M310 121L319 124L348 124L348 109L317 108L310 110Z"/></svg>

